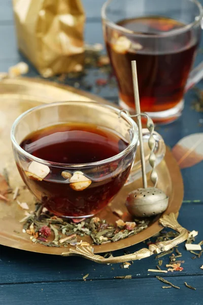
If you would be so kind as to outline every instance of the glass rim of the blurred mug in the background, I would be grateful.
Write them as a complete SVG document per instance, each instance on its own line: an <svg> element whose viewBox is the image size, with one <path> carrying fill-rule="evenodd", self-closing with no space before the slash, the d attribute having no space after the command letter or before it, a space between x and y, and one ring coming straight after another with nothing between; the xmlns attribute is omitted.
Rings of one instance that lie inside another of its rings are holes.
<svg viewBox="0 0 203 305"><path fill-rule="evenodd" d="M186 1L189 1L189 2L192 2L194 4L196 4L196 6L198 7L199 9L199 15L196 17L198 19L194 20L193 22L189 23L189 24L186 24L186 25L183 25L181 26L180 28L177 28L177 29L172 29L168 32L163 32L163 33L158 33L158 34L154 34L154 35L149 35L149 34L144 34L142 32L135 32L135 31L132 31L130 29L127 29L121 25L118 25L116 24L114 21L111 21L110 19L107 18L107 15L106 15L106 9L108 7L108 5L113 2L114 0L107 0L103 6L101 7L101 18L103 20L105 20L106 22L108 22L109 25L111 25L112 27L118 29L119 31L122 31L126 34L134 34L136 36L139 36L139 37L146 37L146 38L163 38L163 37L168 37L168 36L173 36L173 35L177 35L177 34L181 34L183 32L186 32L188 31L190 28L192 28L194 25L198 24L198 23L201 23L201 20L203 18L203 7L202 5L200 4L200 2L198 2L197 0L186 0Z"/></svg>

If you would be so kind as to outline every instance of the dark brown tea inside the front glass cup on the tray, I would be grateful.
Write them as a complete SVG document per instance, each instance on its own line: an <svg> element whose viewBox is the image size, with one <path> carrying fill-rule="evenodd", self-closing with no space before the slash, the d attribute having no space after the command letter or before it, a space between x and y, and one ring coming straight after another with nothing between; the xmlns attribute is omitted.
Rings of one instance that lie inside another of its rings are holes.
<svg viewBox="0 0 203 305"><path fill-rule="evenodd" d="M121 189L131 168L129 162L118 170L118 160L101 166L77 167L111 158L128 146L116 133L90 124L51 126L29 134L20 146L32 156L60 163L46 166L33 161L27 171L18 165L32 193L59 216L96 214ZM40 170L45 172L42 177Z"/></svg>

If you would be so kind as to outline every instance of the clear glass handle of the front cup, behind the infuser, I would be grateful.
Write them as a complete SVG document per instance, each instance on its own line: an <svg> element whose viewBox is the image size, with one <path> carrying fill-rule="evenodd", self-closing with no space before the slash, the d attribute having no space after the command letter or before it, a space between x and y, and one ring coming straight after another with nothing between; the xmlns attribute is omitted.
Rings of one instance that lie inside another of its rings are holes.
<svg viewBox="0 0 203 305"><path fill-rule="evenodd" d="M149 138L150 138L150 132L147 128L144 128L142 130L143 133L143 144L144 144L144 151L145 151L145 162L146 162L146 174L152 170L152 167L149 163L149 156L150 156L150 148L148 145ZM154 139L155 139L155 150L154 154L156 157L155 161L155 167L163 160L165 156L165 143L163 138L159 133L156 131L153 131L152 133ZM130 171L129 177L127 181L125 182L125 186L129 185L133 181L139 179L142 177L142 165L140 160L140 150L137 149L136 158L134 159L134 163L132 165L132 169Z"/></svg>

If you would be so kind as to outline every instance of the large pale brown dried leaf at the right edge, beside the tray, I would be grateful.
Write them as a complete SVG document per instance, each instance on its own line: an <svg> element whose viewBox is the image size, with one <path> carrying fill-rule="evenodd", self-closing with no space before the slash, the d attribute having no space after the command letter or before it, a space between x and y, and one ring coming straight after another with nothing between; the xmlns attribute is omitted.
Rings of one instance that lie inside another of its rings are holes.
<svg viewBox="0 0 203 305"><path fill-rule="evenodd" d="M172 149L180 168L191 167L203 160L203 133L182 138Z"/></svg>

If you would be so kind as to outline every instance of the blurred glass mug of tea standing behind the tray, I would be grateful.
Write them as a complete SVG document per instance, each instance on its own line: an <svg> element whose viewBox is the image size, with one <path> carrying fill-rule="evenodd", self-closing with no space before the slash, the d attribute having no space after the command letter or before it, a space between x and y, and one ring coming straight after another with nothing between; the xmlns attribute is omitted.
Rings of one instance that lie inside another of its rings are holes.
<svg viewBox="0 0 203 305"><path fill-rule="evenodd" d="M109 0L101 15L120 106L134 109L131 60L136 60L141 111L155 123L179 117L185 92L203 77L203 63L190 73L201 35L201 4Z"/></svg>

